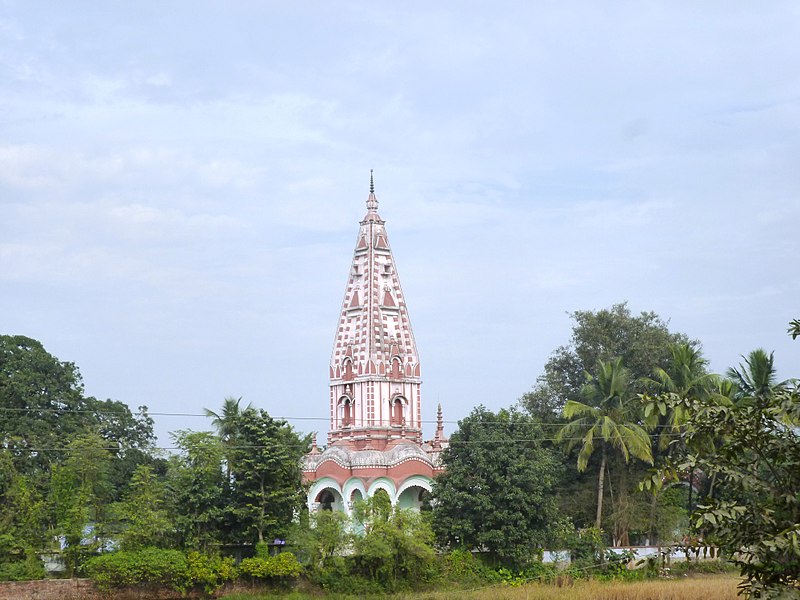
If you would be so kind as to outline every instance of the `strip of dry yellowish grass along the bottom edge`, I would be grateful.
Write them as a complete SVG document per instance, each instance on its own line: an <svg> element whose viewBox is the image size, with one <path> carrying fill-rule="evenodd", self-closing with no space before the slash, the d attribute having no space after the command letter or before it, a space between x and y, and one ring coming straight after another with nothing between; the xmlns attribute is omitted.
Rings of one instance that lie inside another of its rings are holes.
<svg viewBox="0 0 800 600"><path fill-rule="evenodd" d="M573 585L531 584L521 587L492 586L452 592L420 592L385 596L391 600L737 600L735 575L702 575L683 579L637 582L577 581ZM225 600L265 600L263 594L232 594ZM347 596L322 596L342 599ZM319 600L320 596L292 593L283 600Z"/></svg>

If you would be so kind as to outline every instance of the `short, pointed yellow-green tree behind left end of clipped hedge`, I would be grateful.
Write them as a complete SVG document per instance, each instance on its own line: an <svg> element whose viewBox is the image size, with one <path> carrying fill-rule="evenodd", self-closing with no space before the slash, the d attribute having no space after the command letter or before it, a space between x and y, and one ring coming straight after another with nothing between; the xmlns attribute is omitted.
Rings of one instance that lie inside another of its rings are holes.
<svg viewBox="0 0 800 600"><path fill-rule="evenodd" d="M139 465L131 478L117 513L124 529L120 535L123 550L147 546L166 547L171 541L173 520L166 510L166 488L149 465Z"/></svg>

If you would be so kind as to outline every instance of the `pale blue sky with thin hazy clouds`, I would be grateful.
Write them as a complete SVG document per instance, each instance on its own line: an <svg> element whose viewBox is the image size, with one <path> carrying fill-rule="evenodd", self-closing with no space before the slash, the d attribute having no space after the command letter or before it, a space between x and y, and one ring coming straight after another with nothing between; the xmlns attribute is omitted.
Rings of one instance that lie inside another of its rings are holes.
<svg viewBox="0 0 800 600"><path fill-rule="evenodd" d="M424 420L514 404L623 301L712 371L800 376L798 31L793 1L0 0L0 334L134 410L241 396L322 441L374 169Z"/></svg>

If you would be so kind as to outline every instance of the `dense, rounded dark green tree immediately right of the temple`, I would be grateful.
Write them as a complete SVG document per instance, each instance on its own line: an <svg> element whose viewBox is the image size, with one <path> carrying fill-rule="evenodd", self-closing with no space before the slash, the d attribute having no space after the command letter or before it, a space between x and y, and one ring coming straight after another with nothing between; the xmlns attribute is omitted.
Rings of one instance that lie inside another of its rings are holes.
<svg viewBox="0 0 800 600"><path fill-rule="evenodd" d="M495 562L523 566L564 524L553 490L559 461L541 425L516 410L483 406L459 421L433 488L433 527L450 547L485 548Z"/></svg>

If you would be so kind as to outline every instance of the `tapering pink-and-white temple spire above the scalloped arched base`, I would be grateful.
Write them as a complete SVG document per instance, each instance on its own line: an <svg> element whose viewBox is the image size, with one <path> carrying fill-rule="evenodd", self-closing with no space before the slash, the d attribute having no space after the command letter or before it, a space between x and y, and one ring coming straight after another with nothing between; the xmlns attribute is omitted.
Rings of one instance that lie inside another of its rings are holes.
<svg viewBox="0 0 800 600"><path fill-rule="evenodd" d="M422 443L420 363L370 172L330 364L328 441L383 450Z"/></svg>

